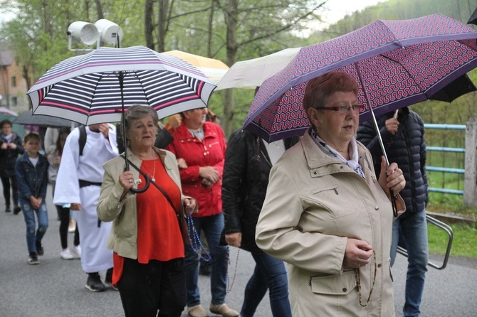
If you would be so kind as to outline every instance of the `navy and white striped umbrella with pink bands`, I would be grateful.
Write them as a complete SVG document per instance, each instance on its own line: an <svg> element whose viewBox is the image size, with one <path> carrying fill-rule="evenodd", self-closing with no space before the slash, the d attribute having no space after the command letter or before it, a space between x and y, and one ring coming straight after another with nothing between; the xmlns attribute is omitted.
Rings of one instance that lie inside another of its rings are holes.
<svg viewBox="0 0 477 317"><path fill-rule="evenodd" d="M145 46L101 47L53 66L27 94L33 116L97 124L120 122L123 109L133 104L153 107L159 118L206 107L215 87L200 70L172 55Z"/></svg>

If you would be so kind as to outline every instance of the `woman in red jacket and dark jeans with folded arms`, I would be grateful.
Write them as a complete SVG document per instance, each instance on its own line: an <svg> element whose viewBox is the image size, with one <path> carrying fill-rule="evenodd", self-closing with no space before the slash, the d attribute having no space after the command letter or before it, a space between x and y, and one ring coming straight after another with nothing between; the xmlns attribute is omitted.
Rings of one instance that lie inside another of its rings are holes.
<svg viewBox="0 0 477 317"><path fill-rule="evenodd" d="M182 122L167 149L177 156L184 195L195 198L199 205L199 213L193 217L194 228L197 232L204 231L212 258L209 310L234 317L239 313L225 303L229 248L219 245L224 228L221 178L226 141L218 124L206 122L206 114L206 108L182 112ZM192 247L186 246L187 312L192 317L208 316L200 302L199 257Z"/></svg>

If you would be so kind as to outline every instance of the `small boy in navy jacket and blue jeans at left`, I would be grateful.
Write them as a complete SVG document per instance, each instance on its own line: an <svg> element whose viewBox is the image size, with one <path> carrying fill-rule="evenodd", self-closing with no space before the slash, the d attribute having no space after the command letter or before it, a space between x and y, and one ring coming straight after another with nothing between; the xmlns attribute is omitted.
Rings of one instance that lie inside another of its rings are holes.
<svg viewBox="0 0 477 317"><path fill-rule="evenodd" d="M19 203L26 224L28 264L39 264L38 255L43 255L41 239L48 228L46 188L48 186L48 160L38 153L40 136L28 133L23 138L25 153L16 160L15 173L19 186ZM36 229L35 213L38 220Z"/></svg>

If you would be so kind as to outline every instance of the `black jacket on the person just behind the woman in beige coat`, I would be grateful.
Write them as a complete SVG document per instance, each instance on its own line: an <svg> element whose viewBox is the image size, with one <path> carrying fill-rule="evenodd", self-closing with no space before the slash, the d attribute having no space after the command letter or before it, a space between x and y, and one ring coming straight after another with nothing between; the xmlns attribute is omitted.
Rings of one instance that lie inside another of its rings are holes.
<svg viewBox="0 0 477 317"><path fill-rule="evenodd" d="M298 138L285 139L285 149ZM242 232L241 249L262 252L255 243L255 227L262 209L272 164L263 141L258 149L257 136L250 131L238 130L231 134L225 154L222 181L222 205L225 217L224 235Z"/></svg>

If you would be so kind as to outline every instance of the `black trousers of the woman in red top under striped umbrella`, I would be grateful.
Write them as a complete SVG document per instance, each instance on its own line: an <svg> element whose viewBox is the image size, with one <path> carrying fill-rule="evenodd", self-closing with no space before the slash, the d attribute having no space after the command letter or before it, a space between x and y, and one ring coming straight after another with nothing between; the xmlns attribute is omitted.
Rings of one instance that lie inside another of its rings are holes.
<svg viewBox="0 0 477 317"><path fill-rule="evenodd" d="M117 287L126 317L180 317L186 304L184 259L140 264L125 258Z"/></svg>

